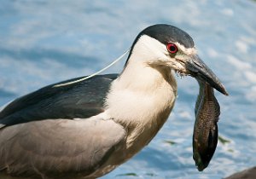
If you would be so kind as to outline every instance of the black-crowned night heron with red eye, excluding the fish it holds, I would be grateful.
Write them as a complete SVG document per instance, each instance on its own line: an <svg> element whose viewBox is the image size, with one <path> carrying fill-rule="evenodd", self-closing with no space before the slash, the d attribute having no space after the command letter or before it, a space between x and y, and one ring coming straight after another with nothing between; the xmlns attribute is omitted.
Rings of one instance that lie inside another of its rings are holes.
<svg viewBox="0 0 256 179"><path fill-rule="evenodd" d="M154 25L138 34L119 75L75 78L12 101L0 112L2 175L107 174L145 147L166 122L177 96L173 72L226 94L196 55L188 33Z"/></svg>

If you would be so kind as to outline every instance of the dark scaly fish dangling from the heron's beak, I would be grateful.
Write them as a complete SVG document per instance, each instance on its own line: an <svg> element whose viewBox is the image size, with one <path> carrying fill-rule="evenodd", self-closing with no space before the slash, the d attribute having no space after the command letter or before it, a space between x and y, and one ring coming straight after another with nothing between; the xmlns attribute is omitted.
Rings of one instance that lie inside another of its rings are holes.
<svg viewBox="0 0 256 179"><path fill-rule="evenodd" d="M199 171L207 168L218 144L220 107L213 88L197 79L200 90L195 103L193 159Z"/></svg>

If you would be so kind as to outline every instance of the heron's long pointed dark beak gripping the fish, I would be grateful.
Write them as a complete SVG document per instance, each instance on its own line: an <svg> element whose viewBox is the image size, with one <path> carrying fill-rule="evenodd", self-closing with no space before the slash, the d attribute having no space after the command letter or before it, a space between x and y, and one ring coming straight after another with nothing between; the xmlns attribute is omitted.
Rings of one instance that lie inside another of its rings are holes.
<svg viewBox="0 0 256 179"><path fill-rule="evenodd" d="M224 95L229 95L225 90L224 85L212 70L203 61L201 61L198 55L193 55L193 57L187 61L186 68L192 77L206 81L212 86L212 88L218 90Z"/></svg>

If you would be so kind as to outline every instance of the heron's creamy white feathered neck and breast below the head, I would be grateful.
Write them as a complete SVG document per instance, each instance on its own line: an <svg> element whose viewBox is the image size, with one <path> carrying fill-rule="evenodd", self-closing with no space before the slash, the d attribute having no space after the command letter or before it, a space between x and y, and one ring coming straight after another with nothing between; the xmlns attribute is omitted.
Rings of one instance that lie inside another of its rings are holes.
<svg viewBox="0 0 256 179"><path fill-rule="evenodd" d="M148 142L166 122L176 95L177 84L171 69L138 61L126 66L113 81L106 99L107 112L134 132L128 142L136 141L142 133L142 140Z"/></svg>

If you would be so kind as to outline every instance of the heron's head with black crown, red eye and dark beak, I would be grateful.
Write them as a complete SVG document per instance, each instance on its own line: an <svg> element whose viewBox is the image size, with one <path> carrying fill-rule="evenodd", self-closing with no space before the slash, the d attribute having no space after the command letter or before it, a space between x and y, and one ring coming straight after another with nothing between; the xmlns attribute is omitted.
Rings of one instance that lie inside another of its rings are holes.
<svg viewBox="0 0 256 179"><path fill-rule="evenodd" d="M141 58L148 66L167 66L181 75L206 81L212 88L228 95L224 85L197 55L193 39L176 26L148 26L138 34L129 57L131 55L137 55L136 59ZM125 65L128 63L126 61Z"/></svg>

